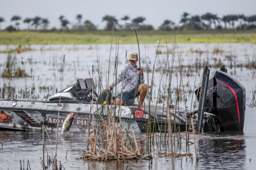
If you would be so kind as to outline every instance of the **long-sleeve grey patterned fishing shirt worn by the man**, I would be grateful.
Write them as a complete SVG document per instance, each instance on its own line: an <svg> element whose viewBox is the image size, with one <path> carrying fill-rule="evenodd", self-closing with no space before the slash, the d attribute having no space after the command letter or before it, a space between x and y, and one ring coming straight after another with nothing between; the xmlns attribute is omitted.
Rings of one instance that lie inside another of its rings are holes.
<svg viewBox="0 0 256 170"><path fill-rule="evenodd" d="M114 79L111 84L115 86L118 83L123 82L124 78L124 85L123 85L123 92L124 91L131 91L132 89L138 87L141 83L144 83L144 75L139 74L139 70L137 70L138 67L131 67L130 64L125 65L117 74L116 80ZM125 76L124 76L125 74ZM122 90L122 85L121 89L119 92Z"/></svg>

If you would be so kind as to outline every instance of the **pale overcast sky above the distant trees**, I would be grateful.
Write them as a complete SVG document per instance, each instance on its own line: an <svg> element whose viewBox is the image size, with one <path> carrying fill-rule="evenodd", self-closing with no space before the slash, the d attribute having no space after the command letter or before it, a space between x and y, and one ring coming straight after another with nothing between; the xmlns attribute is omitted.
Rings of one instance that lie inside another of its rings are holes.
<svg viewBox="0 0 256 170"><path fill-rule="evenodd" d="M47 18L49 29L59 28L60 15L70 21L70 25L77 23L77 14L82 14L83 22L88 19L104 28L102 17L106 14L115 16L120 20L124 15L131 19L143 16L145 24L152 24L158 28L163 20L169 19L179 23L183 12L190 15L202 15L206 12L217 14L219 17L227 14L256 14L256 0L0 0L0 17L5 19L2 28L11 25L11 17L19 15L22 20L26 17L40 16ZM128 22L131 22L128 20ZM21 23L20 28L27 28L27 24Z"/></svg>

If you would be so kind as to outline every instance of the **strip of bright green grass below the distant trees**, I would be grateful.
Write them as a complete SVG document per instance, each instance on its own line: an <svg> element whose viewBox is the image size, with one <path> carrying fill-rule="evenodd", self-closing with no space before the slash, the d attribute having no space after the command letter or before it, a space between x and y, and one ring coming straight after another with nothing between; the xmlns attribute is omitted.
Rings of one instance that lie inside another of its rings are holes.
<svg viewBox="0 0 256 170"><path fill-rule="evenodd" d="M172 43L177 32L177 43L252 43L256 44L256 30L179 30L137 31L140 44ZM0 31L1 45L32 44L110 44L112 31L56 30L56 31ZM116 42L117 34L113 37ZM136 44L134 31L120 30L120 44ZM2 51L5 53L4 51Z"/></svg>

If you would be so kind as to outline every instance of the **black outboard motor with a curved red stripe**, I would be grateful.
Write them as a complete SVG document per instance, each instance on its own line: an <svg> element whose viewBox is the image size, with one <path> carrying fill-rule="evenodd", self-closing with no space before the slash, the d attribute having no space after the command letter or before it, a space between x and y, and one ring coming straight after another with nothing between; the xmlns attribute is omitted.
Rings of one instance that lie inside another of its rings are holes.
<svg viewBox="0 0 256 170"><path fill-rule="evenodd" d="M223 71L216 71L211 75L204 106L205 112L216 115L219 130L243 131L245 88L231 75Z"/></svg>

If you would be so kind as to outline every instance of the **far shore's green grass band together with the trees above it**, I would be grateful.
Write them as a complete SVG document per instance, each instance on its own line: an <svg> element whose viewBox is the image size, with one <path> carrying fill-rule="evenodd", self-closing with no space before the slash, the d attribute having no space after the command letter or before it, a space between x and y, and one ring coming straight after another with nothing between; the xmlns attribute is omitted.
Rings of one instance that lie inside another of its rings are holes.
<svg viewBox="0 0 256 170"><path fill-rule="evenodd" d="M90 20L83 21L82 14L77 14L71 22L65 16L58 17L60 29L49 29L49 20L40 16L22 18L14 15L12 25L1 29L5 19L0 16L0 44L30 45L30 44L110 44L114 26L116 31L123 23L131 23L138 33L139 43L171 43L177 33L177 43L253 43L256 44L256 15L245 16L232 14L218 17L217 14L205 13L201 16L184 12L180 23L170 19L154 28L145 24L145 17L131 19L128 15L119 20L115 16L102 17L104 30L99 30ZM26 24L26 29L20 30L20 25ZM116 38L116 37L114 37ZM130 24L125 24L119 31L120 44L137 43Z"/></svg>

